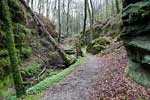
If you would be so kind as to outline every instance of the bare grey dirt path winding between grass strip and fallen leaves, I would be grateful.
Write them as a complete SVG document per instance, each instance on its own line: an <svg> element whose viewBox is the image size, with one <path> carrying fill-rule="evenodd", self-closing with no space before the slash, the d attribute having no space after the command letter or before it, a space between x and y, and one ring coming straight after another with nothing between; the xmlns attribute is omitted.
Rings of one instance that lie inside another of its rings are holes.
<svg viewBox="0 0 150 100"><path fill-rule="evenodd" d="M92 85L98 79L101 70L98 57L87 55L83 63L57 85L46 90L41 100L90 100Z"/></svg>

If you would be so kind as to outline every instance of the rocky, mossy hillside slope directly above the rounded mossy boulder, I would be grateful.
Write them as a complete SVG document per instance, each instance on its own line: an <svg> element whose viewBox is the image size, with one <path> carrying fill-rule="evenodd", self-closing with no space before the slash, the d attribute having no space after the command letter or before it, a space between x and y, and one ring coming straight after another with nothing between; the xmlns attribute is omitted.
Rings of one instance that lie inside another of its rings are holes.
<svg viewBox="0 0 150 100"><path fill-rule="evenodd" d="M122 20L121 15L118 14L114 17L111 17L107 20L102 20L100 22L96 22L93 25L93 29L87 29L85 32L85 39L83 42L83 37L81 37L81 42L84 45L88 45L91 40L95 40L99 37L111 37L111 40L116 39L119 41L120 34L122 32ZM81 36L83 33L81 32Z"/></svg>

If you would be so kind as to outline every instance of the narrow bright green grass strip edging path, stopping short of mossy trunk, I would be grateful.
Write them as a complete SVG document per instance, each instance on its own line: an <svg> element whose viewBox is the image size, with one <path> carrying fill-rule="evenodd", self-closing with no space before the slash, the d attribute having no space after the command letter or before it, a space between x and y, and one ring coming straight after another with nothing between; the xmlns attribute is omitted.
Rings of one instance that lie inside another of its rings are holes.
<svg viewBox="0 0 150 100"><path fill-rule="evenodd" d="M41 90L54 85L58 81L60 81L63 77L65 77L67 74L69 74L71 71L73 71L76 66L78 66L82 62L83 58L79 58L78 61L71 65L69 68L64 69L60 73L53 75L51 77L46 78L45 80L41 81L40 83L36 84L35 86L27 89L28 94L35 94L39 93Z"/></svg>

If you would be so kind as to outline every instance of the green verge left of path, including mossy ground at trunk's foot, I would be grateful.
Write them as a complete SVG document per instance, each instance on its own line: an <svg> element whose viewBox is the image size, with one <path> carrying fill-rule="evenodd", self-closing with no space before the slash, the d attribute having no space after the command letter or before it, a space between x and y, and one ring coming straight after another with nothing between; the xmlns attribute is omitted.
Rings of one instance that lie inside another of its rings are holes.
<svg viewBox="0 0 150 100"><path fill-rule="evenodd" d="M83 58L79 58L77 62L71 65L69 68L66 68L59 72L56 75L52 75L51 77L46 78L45 80L41 81L40 83L34 85L33 87L27 89L27 95L17 99L17 100L39 100L40 97L43 96L42 90L48 88L49 86L55 85L59 82L62 78L64 78L67 74L72 72L81 62ZM16 100L16 99L11 99Z"/></svg>

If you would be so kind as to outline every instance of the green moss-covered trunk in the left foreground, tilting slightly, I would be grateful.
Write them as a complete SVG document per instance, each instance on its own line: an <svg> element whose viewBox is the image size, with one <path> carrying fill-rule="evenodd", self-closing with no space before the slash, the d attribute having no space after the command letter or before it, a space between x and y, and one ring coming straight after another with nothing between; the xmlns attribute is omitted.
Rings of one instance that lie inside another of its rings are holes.
<svg viewBox="0 0 150 100"><path fill-rule="evenodd" d="M9 52L13 80L16 88L16 95L17 97L20 97L21 95L25 94L25 88L23 86L22 77L18 68L18 58L14 43L12 19L9 12L7 0L0 0L0 13L1 13L0 17L2 17L4 21L2 29L4 32L6 32L7 48Z"/></svg>

